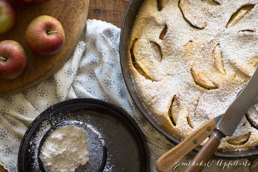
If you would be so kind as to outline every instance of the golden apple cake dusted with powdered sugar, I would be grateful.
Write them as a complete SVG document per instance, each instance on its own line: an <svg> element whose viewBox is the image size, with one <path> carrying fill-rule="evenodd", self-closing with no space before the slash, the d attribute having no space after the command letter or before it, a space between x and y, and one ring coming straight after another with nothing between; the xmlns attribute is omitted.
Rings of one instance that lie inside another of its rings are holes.
<svg viewBox="0 0 258 172"><path fill-rule="evenodd" d="M257 67L257 29L258 0L143 3L129 43L130 69L140 99L163 128L184 139L226 111ZM218 150L258 146L257 118L258 104Z"/></svg>

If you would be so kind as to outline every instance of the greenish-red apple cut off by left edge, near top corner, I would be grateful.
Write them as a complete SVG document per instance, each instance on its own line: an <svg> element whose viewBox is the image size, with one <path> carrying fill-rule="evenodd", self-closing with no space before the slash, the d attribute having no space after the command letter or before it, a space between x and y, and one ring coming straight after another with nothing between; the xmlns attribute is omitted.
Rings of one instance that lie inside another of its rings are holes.
<svg viewBox="0 0 258 172"><path fill-rule="evenodd" d="M7 0L0 0L0 35L9 32L17 19L13 5Z"/></svg>

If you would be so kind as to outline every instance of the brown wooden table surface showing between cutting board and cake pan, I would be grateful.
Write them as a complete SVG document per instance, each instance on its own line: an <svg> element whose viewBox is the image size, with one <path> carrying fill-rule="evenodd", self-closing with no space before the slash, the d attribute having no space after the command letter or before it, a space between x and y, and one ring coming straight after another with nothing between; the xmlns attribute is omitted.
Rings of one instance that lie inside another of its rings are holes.
<svg viewBox="0 0 258 172"><path fill-rule="evenodd" d="M88 19L106 21L121 28L124 14L130 0L90 0ZM0 165L0 172L7 172Z"/></svg>

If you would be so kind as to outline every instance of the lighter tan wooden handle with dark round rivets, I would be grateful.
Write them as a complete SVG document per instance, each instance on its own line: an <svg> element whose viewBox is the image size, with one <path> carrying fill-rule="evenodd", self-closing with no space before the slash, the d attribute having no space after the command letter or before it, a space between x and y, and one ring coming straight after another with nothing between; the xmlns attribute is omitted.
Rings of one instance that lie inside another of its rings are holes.
<svg viewBox="0 0 258 172"><path fill-rule="evenodd" d="M177 144L177 146L170 149L157 160L156 170L161 172L167 172L171 170L185 155L187 155L203 140L210 136L210 134L214 131L215 126L216 122L211 119L200 128L196 129L182 142Z"/></svg>

